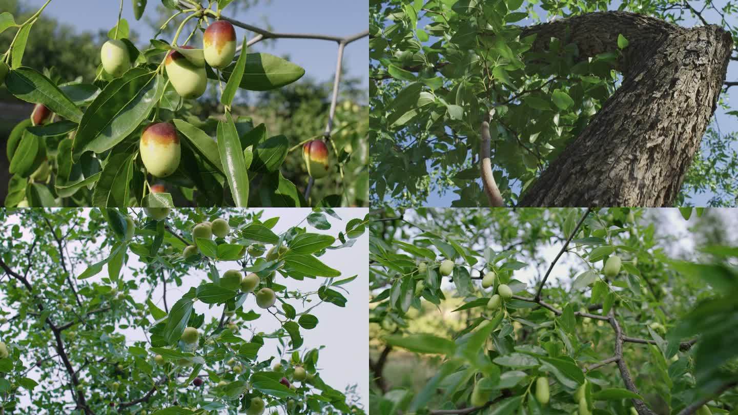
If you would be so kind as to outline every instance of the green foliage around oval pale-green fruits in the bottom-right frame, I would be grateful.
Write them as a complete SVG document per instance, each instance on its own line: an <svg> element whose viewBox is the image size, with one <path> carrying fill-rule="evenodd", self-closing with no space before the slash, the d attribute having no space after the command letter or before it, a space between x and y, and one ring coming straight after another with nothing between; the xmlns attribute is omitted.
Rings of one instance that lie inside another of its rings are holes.
<svg viewBox="0 0 738 415"><path fill-rule="evenodd" d="M638 396L655 414L686 414L702 400L713 414L735 414L734 210L586 212L421 208L373 216L372 413L576 414L573 395L586 379L594 414L630 414ZM607 278L601 269L612 255L623 264ZM448 277L438 273L445 259L455 262ZM497 280L485 289L489 270ZM499 284L514 297L495 312L486 304ZM605 364L618 354L610 317L630 339L621 353L638 395L615 363ZM533 396L539 376L551 383L545 406ZM483 383L489 403L470 411L469 395Z"/></svg>

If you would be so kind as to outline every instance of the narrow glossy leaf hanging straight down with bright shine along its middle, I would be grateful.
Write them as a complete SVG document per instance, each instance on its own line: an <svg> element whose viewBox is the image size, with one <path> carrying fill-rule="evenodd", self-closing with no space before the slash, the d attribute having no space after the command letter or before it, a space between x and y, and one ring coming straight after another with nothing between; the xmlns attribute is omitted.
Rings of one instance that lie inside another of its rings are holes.
<svg viewBox="0 0 738 415"><path fill-rule="evenodd" d="M236 207L247 207L249 174L246 172L244 152L230 112L226 112L225 121L218 121L218 152L221 154L221 162Z"/></svg>

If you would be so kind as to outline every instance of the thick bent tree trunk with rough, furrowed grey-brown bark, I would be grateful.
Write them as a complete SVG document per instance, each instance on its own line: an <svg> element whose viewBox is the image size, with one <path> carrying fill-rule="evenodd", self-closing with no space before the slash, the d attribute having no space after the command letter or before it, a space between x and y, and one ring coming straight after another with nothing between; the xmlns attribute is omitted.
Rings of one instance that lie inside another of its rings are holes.
<svg viewBox="0 0 738 415"><path fill-rule="evenodd" d="M605 12L528 27L521 37L537 33L533 50L541 50L566 30L581 58L616 50L624 35L623 83L518 205L672 206L717 106L731 35Z"/></svg>

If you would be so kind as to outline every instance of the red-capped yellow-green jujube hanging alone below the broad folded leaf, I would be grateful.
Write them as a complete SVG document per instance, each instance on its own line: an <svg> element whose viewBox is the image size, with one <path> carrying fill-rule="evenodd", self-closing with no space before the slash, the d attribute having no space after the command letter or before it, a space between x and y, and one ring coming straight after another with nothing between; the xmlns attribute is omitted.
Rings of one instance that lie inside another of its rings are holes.
<svg viewBox="0 0 738 415"><path fill-rule="evenodd" d="M146 127L141 134L139 146L143 165L154 176L169 176L179 167L182 148L177 131L170 123L156 123Z"/></svg>

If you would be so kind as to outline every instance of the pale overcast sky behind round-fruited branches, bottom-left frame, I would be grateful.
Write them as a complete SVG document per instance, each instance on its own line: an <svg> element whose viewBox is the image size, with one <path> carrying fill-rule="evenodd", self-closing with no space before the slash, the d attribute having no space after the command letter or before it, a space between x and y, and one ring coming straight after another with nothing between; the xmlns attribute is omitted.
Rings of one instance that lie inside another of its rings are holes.
<svg viewBox="0 0 738 415"><path fill-rule="evenodd" d="M262 209L254 209L262 210ZM272 229L275 233L280 234L289 227L297 225L300 221L305 219L306 216L311 212L308 208L265 208L262 219L269 219L275 216L279 216L280 220L277 225ZM337 208L335 209L342 220L338 220L332 217L328 217L328 221L331 222L330 230L317 230L311 227L307 222L300 224L302 227L307 227L308 232L313 233L325 233L331 236L337 236L339 231L345 230L345 226L351 219L363 218L367 213L366 208ZM17 216L13 217L13 220L17 222ZM26 237L30 234L25 233ZM70 250L79 250L79 244L72 244ZM84 247L89 249L89 247ZM106 248L109 250L109 248ZM320 351L320 358L318 360L318 369L320 371L321 378L336 388L339 391L344 391L347 386L358 385L357 392L362 397L362 403L365 410L368 410L368 366L366 365L367 356L369 354L369 346L367 341L367 333L369 326L369 314L366 304L368 303L368 232L362 235L356 240L356 244L353 247L343 248L340 250L328 250L325 255L320 257L320 260L328 264L328 266L339 270L342 275L340 278L348 278L354 275L359 275L356 280L351 281L349 284L345 284L344 287L348 292L342 291L345 298L348 299L348 303L344 308L335 306L331 303L323 303L317 306L311 311L312 315L315 315L319 323L316 328L311 330L300 329L301 335L305 340L305 343L300 348L301 351L325 346L325 349ZM74 254L72 254L74 255ZM128 266L133 268L141 267L141 263L137 261L137 255L131 254L128 258ZM218 270L221 274L225 270L229 270L236 265L235 262L218 262ZM84 269L75 269L72 274L79 275ZM100 272L100 274L89 278L88 282L100 281L100 278L106 275L106 272ZM126 275L130 276L129 270L123 270L122 278ZM30 279L36 278L35 275L30 275ZM182 295L190 289L190 287L196 287L200 284L200 281L207 279L207 273L204 270L193 270L187 278L183 278L182 287L173 287L173 284L168 284L167 290L167 303L172 306L175 301L179 300ZM337 278L338 279L338 278ZM293 279L286 280L280 276L277 276L277 282L279 284L286 284L289 289L300 289L301 291L314 291L320 287L320 284L325 281L323 278L309 279L306 281L296 281ZM145 292L148 289L148 285L142 285L140 289L132 293L137 303L144 303ZM164 308L162 301L162 289L156 289L151 295L152 301L156 303L160 308ZM340 289L339 289L340 291ZM317 295L315 296L317 299ZM0 298L0 303L2 298ZM303 311L300 303L296 301L289 301L292 306L295 307L297 313ZM311 303L314 304L315 302ZM255 301L252 295L244 303L244 310L255 309L256 312L260 312L261 309L255 306ZM204 313L205 321L208 322L210 318L220 318L222 306L213 306L212 309L207 308L207 304L196 302L195 311L198 313ZM268 313L262 314L258 320L249 322L252 324L252 328L255 332L272 332L279 327L279 323ZM244 323L243 326L248 326ZM0 329L1 331L1 329ZM125 329L121 330L125 337L126 343L132 344L135 341L146 340L142 329ZM246 340L250 338L249 332L244 329L241 333L242 337ZM5 340L7 342L7 340ZM265 346L259 352L258 359L265 360L266 358L275 355L277 353L277 340L264 339ZM33 372L29 375L30 377L37 379L38 373L35 375ZM28 394L24 394L21 397L21 405L27 405Z"/></svg>

